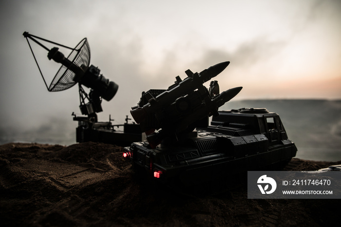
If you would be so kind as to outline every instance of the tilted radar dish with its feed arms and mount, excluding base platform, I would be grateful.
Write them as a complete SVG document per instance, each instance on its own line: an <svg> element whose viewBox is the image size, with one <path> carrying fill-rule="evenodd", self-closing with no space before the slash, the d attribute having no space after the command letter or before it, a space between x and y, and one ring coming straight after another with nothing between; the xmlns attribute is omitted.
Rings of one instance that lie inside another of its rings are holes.
<svg viewBox="0 0 341 227"><path fill-rule="evenodd" d="M79 85L84 85L88 88L91 88L92 97L88 104L82 104L81 111L82 114L93 114L101 112L102 109L100 107L100 97L104 98L107 101L110 101L117 92L118 85L115 84L113 81L109 81L103 75L100 75L100 70L95 67L94 65L90 64L90 46L87 41L87 38L83 38L75 48L66 47L61 45L65 48L69 48L72 50L70 55L65 58L64 55L59 51L59 48L53 47L49 50L43 44L38 42L38 39L41 39L37 36L31 35L28 32L24 32L23 36L25 38L30 38L44 49L48 51L47 57L49 60L53 59L57 63L61 63L62 66L59 68L56 76L53 78L47 90L49 92L57 92L66 90L76 83ZM42 39L47 42L51 42L46 39ZM28 39L27 39L28 41ZM57 44L55 42L51 42ZM60 44L57 44L60 45ZM31 45L30 45L31 47ZM32 48L31 48L32 50ZM32 51L33 53L33 51ZM38 62L37 62L38 65ZM38 66L39 67L39 66ZM39 68L40 69L40 68ZM41 73L41 71L40 71ZM44 76L41 73L41 76ZM45 81L45 79L44 79ZM84 95L84 90L79 88L79 92ZM87 97L87 96L85 96ZM94 106L94 107L92 107Z"/></svg>

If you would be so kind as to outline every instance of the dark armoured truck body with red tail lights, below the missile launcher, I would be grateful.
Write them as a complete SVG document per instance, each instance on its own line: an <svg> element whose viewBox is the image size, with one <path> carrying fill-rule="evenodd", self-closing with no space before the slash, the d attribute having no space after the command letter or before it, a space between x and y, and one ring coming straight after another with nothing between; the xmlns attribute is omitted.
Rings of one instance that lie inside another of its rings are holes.
<svg viewBox="0 0 341 227"><path fill-rule="evenodd" d="M280 170L297 151L280 116L265 108L219 111L211 126L194 133L181 146L151 149L136 142L125 156L159 181L193 185L247 170Z"/></svg>

